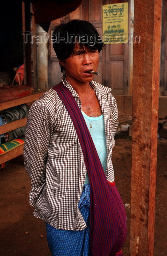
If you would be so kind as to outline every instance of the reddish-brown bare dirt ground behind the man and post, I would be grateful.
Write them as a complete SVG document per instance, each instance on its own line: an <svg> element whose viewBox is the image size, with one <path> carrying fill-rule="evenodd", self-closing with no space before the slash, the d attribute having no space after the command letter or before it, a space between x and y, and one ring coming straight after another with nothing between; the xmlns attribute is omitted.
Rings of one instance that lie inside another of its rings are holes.
<svg viewBox="0 0 167 256"><path fill-rule="evenodd" d="M123 202L130 204L131 138L116 139L112 161L117 187ZM167 140L158 140L155 245L154 256L167 255L166 248L166 191ZM0 170L0 255L49 256L45 223L33 217L29 205L30 182L23 162L11 162ZM124 256L129 255L130 210L127 211L128 237L123 246ZM142 255L139 255L142 256Z"/></svg>

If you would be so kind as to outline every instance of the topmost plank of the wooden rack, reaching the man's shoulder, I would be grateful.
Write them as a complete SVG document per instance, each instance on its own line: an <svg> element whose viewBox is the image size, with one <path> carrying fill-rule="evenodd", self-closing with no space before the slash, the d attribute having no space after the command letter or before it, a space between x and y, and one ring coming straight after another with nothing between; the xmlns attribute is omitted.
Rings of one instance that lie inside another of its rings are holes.
<svg viewBox="0 0 167 256"><path fill-rule="evenodd" d="M41 91L40 93L34 93L28 96L24 96L18 99L12 99L11 101L2 102L0 103L0 111L15 107L21 104L25 104L31 101L36 101L42 94L44 94L44 91Z"/></svg>

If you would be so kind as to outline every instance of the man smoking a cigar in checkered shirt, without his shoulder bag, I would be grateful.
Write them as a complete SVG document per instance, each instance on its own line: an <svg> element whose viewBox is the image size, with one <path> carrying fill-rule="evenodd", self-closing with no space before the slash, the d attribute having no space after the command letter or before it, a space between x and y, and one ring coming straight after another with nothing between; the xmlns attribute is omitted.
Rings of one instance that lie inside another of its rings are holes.
<svg viewBox="0 0 167 256"><path fill-rule="evenodd" d="M83 20L62 23L53 35L61 72L65 71L61 82L79 106L112 183L118 110L111 89L94 82L94 74L88 73L97 71L103 42L95 27ZM33 214L46 222L52 255L87 256L90 180L73 121L54 89L29 110L24 161L31 179L29 202L35 206Z"/></svg>

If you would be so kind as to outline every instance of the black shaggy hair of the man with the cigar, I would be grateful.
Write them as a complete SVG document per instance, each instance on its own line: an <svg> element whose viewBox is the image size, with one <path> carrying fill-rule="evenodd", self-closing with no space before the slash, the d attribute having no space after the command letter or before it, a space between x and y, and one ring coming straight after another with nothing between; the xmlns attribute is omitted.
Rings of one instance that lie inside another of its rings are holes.
<svg viewBox="0 0 167 256"><path fill-rule="evenodd" d="M76 42L79 42L83 50L83 46L86 46L86 49L98 50L99 53L105 47L98 31L86 20L62 20L60 25L54 27L53 38L53 48L61 61L73 55ZM64 67L61 64L60 68L63 72Z"/></svg>

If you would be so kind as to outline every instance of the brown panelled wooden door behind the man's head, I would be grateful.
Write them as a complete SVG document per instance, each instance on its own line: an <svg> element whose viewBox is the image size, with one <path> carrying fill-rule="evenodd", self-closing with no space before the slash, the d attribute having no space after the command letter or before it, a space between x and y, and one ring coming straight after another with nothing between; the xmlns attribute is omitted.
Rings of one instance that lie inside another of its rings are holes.
<svg viewBox="0 0 167 256"><path fill-rule="evenodd" d="M118 2L126 2L117 0ZM102 35L102 5L115 3L115 0L83 0L82 4L65 18L83 19L92 23ZM62 19L62 18L61 18ZM60 23L61 19L52 21L51 29ZM49 49L50 87L60 82L59 62L52 45ZM110 44L100 52L98 71L100 76L94 80L104 86L113 88L113 94L127 94L128 91L128 44Z"/></svg>

